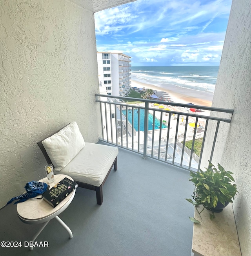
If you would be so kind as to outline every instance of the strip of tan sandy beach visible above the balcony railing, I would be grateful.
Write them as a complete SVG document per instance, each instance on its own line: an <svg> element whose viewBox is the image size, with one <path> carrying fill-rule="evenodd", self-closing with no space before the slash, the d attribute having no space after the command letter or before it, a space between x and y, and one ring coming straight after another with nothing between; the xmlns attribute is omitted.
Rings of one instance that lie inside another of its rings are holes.
<svg viewBox="0 0 251 256"><path fill-rule="evenodd" d="M186 89L186 88L181 88L178 86L175 86L173 84L168 84L168 88L163 88L158 85L154 84L147 84L144 82L139 82L136 80L131 80L131 86L132 87L137 87L137 88L150 88L153 90L156 90L157 96L162 96L163 93L168 93L170 96L170 100L173 102L178 102L178 103L193 103L195 105L200 105L200 106L212 106L212 101L213 101L213 93L206 92L206 91L198 91L198 90L191 90L191 89ZM163 92L163 93L161 93Z"/></svg>

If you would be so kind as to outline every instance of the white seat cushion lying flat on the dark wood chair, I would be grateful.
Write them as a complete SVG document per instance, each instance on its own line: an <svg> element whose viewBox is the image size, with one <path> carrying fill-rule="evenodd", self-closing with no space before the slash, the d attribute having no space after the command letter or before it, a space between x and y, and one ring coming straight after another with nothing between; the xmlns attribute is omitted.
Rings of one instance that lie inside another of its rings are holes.
<svg viewBox="0 0 251 256"><path fill-rule="evenodd" d="M117 155L117 147L86 142L85 147L60 171L60 174L99 187Z"/></svg>

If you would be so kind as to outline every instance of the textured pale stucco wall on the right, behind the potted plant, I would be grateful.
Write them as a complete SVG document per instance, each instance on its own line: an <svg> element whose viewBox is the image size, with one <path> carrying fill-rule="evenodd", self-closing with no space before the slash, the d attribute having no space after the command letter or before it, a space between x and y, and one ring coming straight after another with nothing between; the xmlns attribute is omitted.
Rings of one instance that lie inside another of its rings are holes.
<svg viewBox="0 0 251 256"><path fill-rule="evenodd" d="M231 124L220 128L213 163L235 173L239 194L233 207L242 256L251 255L250 10L249 0L233 0L212 104L234 109Z"/></svg>

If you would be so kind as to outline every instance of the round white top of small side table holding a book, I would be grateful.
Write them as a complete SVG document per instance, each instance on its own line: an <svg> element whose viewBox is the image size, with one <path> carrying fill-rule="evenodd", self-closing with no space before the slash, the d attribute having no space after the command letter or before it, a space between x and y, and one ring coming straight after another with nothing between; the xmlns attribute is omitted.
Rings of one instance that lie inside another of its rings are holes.
<svg viewBox="0 0 251 256"><path fill-rule="evenodd" d="M68 179L73 180L71 177L67 175L61 175L57 174L54 175L55 180L52 183L48 182L47 177L44 179L40 179L41 182L45 182L52 188L56 183L64 179L64 177L67 177ZM36 199L36 200L26 200L22 203L18 203L16 210L18 213L18 217L26 222L36 222L41 223L45 222L49 219L55 218L58 214L60 214L73 200L73 197L75 196L76 189L69 194L62 202L60 202L55 208L53 208L51 205L46 203L43 199ZM34 198L39 198L41 195L38 195ZM41 221L42 220L42 221Z"/></svg>

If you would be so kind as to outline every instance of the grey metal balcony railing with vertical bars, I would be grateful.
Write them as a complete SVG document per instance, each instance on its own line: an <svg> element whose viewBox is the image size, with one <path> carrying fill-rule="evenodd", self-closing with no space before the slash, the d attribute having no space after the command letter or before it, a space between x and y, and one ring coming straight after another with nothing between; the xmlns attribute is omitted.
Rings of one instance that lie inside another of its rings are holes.
<svg viewBox="0 0 251 256"><path fill-rule="evenodd" d="M211 154L207 156L211 161L220 123L230 123L233 114L232 109L101 94L95 96L96 102L100 102L103 127L100 140L141 154L143 158L152 157L193 171L200 169L208 122L215 122ZM209 116L211 111L230 116ZM197 139L202 140L200 156L193 152ZM191 150L185 146L187 141L191 141Z"/></svg>

